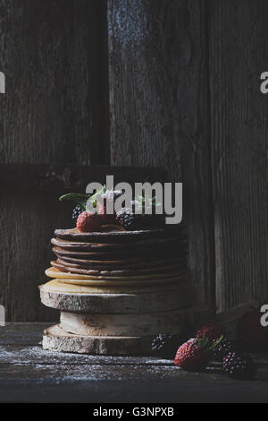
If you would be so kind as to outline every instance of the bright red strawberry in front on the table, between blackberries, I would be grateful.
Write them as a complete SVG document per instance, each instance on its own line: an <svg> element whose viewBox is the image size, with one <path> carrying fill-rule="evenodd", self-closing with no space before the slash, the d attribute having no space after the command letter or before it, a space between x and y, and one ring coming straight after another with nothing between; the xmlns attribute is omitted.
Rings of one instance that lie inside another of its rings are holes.
<svg viewBox="0 0 268 421"><path fill-rule="evenodd" d="M179 365L188 371L201 371L208 365L214 347L216 347L223 337L217 340L212 346L207 338L189 339L186 343L180 346L175 357L175 365Z"/></svg>

